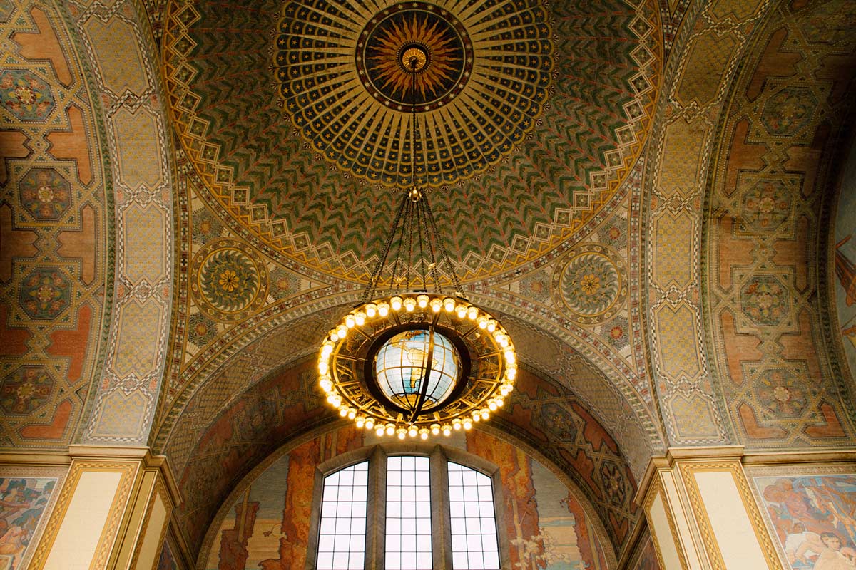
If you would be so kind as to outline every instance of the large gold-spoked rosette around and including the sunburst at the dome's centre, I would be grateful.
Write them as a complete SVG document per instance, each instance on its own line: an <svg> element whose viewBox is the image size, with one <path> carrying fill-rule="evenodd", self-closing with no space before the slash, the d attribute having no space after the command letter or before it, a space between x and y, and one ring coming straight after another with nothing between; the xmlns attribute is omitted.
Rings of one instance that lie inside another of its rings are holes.
<svg viewBox="0 0 856 570"><path fill-rule="evenodd" d="M277 79L306 141L345 172L384 185L409 181L414 128L428 185L468 179L507 156L550 89L554 48L544 6L379 4L302 0L283 9ZM415 126L407 50L424 54Z"/></svg>

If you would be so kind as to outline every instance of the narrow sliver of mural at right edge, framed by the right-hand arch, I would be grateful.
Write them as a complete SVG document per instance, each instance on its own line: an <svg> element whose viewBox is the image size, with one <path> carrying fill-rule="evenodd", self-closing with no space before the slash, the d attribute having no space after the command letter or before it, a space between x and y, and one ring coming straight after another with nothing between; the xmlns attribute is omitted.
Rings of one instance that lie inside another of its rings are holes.
<svg viewBox="0 0 856 570"><path fill-rule="evenodd" d="M856 144L841 175L835 219L835 305L850 373L856 376Z"/></svg>

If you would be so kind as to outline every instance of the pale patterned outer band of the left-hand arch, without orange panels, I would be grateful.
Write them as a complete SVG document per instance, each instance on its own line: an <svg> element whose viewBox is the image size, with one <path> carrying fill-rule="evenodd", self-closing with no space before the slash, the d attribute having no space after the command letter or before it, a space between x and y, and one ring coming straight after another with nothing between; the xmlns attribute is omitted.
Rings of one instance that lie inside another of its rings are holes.
<svg viewBox="0 0 856 570"><path fill-rule="evenodd" d="M80 434L86 443L146 443L169 336L173 153L157 50L140 10L125 0L72 18L98 97L110 109L104 162L114 173L116 198L116 267L108 285L116 309L104 370ZM121 62L117 53L123 54Z"/></svg>

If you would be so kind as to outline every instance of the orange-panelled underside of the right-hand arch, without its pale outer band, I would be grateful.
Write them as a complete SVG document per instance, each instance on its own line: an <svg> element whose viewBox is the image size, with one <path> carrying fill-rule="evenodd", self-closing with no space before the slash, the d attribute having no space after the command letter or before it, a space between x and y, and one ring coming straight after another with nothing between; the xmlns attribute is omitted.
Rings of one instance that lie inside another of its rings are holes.
<svg viewBox="0 0 856 570"><path fill-rule="evenodd" d="M851 73L829 61L852 62L856 48L829 15L847 9L772 10L716 130L702 220L704 333L722 347L711 376L735 442L749 449L856 437L830 323L826 229L853 94Z"/></svg>

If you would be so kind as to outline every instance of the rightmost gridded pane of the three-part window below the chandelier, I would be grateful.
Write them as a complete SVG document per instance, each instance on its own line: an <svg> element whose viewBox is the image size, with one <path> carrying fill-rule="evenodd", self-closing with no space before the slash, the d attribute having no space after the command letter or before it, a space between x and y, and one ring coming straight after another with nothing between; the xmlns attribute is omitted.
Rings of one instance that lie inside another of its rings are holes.
<svg viewBox="0 0 856 570"><path fill-rule="evenodd" d="M498 570L499 546L490 477L449 461L452 567Z"/></svg>

